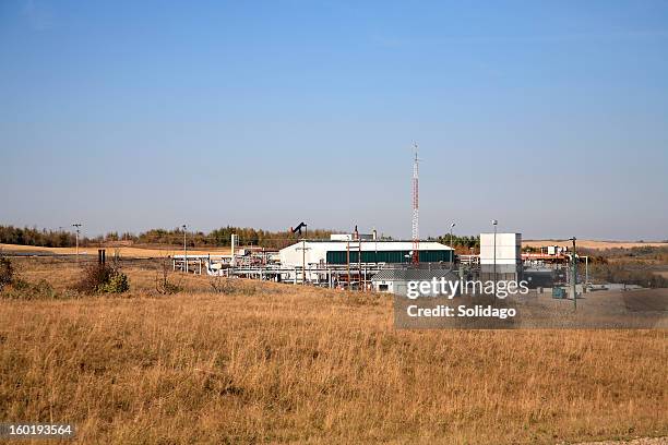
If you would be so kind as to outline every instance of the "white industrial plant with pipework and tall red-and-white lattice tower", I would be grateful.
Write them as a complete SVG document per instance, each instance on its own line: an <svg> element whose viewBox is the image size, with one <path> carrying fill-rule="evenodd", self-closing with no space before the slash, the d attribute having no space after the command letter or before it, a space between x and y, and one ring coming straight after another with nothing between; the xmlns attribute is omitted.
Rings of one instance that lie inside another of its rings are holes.
<svg viewBox="0 0 668 445"><path fill-rule="evenodd" d="M452 246L420 240L419 161L414 145L411 240L379 238L375 230L359 233L357 226L351 232L334 233L330 239L309 239L307 224L301 221L290 228L298 241L279 251L240 248L232 234L228 255L184 252L172 256L174 269L397 294L405 294L407 281L434 277L493 282L526 279L534 288L551 287L568 278L565 264L572 264L577 256L570 255L564 246L546 246L539 254L523 253L522 233L497 232L496 219L491 221L493 232L480 233L479 254L457 256Z"/></svg>

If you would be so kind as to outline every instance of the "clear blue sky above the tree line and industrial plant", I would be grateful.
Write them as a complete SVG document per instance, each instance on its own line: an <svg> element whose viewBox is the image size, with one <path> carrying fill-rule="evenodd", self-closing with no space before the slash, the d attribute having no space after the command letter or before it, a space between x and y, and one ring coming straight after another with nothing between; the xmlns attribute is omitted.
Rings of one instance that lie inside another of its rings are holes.
<svg viewBox="0 0 668 445"><path fill-rule="evenodd" d="M668 238L667 1L0 1L0 224Z"/></svg>

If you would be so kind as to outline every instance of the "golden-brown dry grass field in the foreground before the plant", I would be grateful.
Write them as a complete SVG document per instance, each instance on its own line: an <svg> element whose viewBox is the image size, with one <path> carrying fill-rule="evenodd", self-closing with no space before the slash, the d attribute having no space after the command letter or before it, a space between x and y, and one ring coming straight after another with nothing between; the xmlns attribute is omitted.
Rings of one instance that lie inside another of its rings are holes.
<svg viewBox="0 0 668 445"><path fill-rule="evenodd" d="M82 444L668 435L665 330L395 330L386 297L193 276L160 296L126 272L121 297L0 298L0 420L73 422Z"/></svg>

